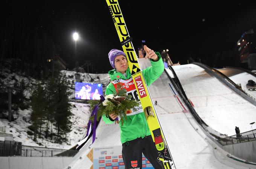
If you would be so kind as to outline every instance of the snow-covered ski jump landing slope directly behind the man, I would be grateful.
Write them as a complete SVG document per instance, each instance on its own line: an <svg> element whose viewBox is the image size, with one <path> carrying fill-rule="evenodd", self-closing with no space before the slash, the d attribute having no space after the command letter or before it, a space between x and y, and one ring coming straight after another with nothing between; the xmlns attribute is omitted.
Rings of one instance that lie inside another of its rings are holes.
<svg viewBox="0 0 256 169"><path fill-rule="evenodd" d="M139 60L142 67L150 64ZM255 168L228 158L228 153L206 136L192 115L186 112L187 107L181 98L175 95L177 91L165 72L149 87L149 92L153 102L157 101L155 108L177 169ZM119 126L115 124L101 121L96 137L98 139L94 144L90 147L87 145L80 158L69 165L71 168L90 168L93 163L87 156L93 148L121 145ZM88 144L91 144L91 140Z"/></svg>

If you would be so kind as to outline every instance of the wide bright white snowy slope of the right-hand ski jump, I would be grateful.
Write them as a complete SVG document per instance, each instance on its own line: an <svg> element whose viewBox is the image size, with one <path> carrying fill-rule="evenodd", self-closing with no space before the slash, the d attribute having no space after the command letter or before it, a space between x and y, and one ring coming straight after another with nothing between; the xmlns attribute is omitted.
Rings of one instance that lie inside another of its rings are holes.
<svg viewBox="0 0 256 169"><path fill-rule="evenodd" d="M172 66L197 114L212 129L229 136L256 129L256 107L195 64Z"/></svg>

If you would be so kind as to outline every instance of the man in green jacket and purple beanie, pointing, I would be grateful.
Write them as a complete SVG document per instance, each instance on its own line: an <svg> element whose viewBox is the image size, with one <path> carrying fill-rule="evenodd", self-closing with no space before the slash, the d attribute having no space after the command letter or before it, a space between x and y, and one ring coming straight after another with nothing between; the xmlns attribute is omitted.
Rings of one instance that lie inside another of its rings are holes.
<svg viewBox="0 0 256 169"><path fill-rule="evenodd" d="M164 64L159 52L154 52L146 45L143 46L146 56L145 59L151 60L151 66L142 70L146 84L151 85L164 70ZM108 72L111 78L110 84L106 88L105 95L113 94L116 91L117 84L121 84L127 90L127 94L132 96L132 99L139 99L131 72L128 67L126 55L123 51L112 49L108 53L111 66L114 68ZM120 139L122 143L122 156L125 168L142 168L142 153L151 162L152 166L161 169L162 166L157 160L158 154L155 144L152 140L148 123L145 114L140 104L126 112L127 119L123 121L123 126L120 123ZM102 117L105 123L114 123L116 115L110 114L110 117Z"/></svg>

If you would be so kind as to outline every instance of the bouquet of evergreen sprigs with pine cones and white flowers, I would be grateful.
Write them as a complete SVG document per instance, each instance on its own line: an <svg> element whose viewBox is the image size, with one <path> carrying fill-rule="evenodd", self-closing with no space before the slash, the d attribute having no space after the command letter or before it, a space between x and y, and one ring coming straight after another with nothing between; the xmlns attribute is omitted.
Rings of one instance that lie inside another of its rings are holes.
<svg viewBox="0 0 256 169"><path fill-rule="evenodd" d="M114 94L109 94L101 96L101 100L90 100L90 111L96 108L97 113L92 114L90 121L93 124L95 122L95 115L97 121L102 117L102 115L107 115L110 117L110 114L117 115L120 117L121 125L123 126L123 120L126 120L126 112L130 113L132 108L139 106L139 100L131 100L131 95L126 95L127 91L125 88L122 88L120 84L117 84L117 91ZM118 117L115 119L119 123Z"/></svg>

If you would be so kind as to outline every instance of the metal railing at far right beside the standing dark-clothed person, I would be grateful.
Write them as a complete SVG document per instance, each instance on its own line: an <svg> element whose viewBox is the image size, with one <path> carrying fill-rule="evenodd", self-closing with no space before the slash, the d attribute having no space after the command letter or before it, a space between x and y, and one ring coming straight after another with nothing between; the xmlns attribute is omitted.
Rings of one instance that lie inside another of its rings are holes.
<svg viewBox="0 0 256 169"><path fill-rule="evenodd" d="M242 142L249 142L256 140L256 129L248 132L240 133L239 135L233 135L226 138L219 139L218 142L221 145L238 144Z"/></svg>

